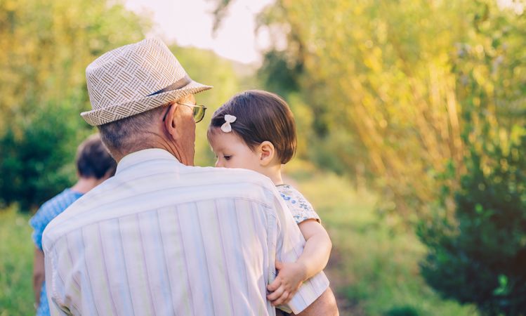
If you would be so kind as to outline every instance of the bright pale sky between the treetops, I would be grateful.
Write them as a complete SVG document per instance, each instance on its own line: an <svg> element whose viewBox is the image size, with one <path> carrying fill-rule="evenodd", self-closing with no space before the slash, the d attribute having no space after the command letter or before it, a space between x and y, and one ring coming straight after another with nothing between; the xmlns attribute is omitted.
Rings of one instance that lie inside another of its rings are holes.
<svg viewBox="0 0 526 316"><path fill-rule="evenodd" d="M125 6L138 14L150 15L154 22L150 35L180 46L209 49L238 62L261 63L261 52L270 46L270 34L261 29L256 35L256 18L271 2L232 2L215 31L213 1L127 0Z"/></svg>

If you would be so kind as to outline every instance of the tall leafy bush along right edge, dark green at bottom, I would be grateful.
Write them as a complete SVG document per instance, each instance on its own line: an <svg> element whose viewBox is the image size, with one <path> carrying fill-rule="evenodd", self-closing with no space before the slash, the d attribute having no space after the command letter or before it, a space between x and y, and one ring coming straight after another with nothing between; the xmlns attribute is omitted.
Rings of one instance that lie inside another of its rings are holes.
<svg viewBox="0 0 526 316"><path fill-rule="evenodd" d="M457 45L452 68L469 154L438 177L442 196L419 227L428 284L486 315L522 315L526 307L523 17L476 3L473 45Z"/></svg>

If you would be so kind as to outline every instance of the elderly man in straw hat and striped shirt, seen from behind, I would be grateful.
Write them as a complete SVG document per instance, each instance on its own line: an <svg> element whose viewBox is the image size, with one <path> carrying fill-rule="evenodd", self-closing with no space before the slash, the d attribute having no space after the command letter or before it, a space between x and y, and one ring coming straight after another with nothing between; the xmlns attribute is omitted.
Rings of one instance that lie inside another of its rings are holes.
<svg viewBox="0 0 526 316"><path fill-rule="evenodd" d="M117 172L44 232L52 314L275 315L275 260L295 261L304 240L268 178L193 166L206 109L194 95L211 86L157 39L105 53L86 78L81 115ZM280 308L337 315L328 283L316 275Z"/></svg>

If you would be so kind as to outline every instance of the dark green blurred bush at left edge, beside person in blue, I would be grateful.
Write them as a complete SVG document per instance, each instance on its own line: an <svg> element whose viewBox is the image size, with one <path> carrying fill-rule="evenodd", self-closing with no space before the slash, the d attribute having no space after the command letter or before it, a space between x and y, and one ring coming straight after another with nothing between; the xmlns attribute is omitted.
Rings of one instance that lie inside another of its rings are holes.
<svg viewBox="0 0 526 316"><path fill-rule="evenodd" d="M74 107L35 108L31 119L18 119L0 138L0 199L18 202L22 211L38 206L72 184L72 162L80 143ZM85 129L84 129L85 130ZM82 131L82 129L81 129Z"/></svg>

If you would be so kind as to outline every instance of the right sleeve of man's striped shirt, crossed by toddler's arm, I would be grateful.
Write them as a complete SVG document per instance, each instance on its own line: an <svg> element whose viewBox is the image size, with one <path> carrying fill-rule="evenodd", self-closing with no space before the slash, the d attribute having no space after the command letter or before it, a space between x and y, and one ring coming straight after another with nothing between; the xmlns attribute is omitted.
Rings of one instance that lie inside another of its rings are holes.
<svg viewBox="0 0 526 316"><path fill-rule="evenodd" d="M305 239L287 209L287 204L277 191L275 191L274 205L277 219L276 259L282 262L295 262L303 252ZM273 262L271 264L274 265ZM273 266L271 270L274 275L270 276L269 282L275 279L275 267ZM328 287L329 279L320 272L303 282L287 305L280 305L278 308L298 314L320 297Z"/></svg>

